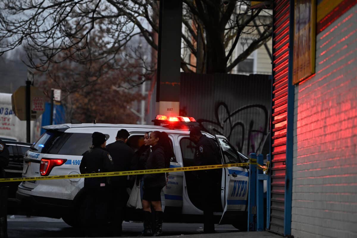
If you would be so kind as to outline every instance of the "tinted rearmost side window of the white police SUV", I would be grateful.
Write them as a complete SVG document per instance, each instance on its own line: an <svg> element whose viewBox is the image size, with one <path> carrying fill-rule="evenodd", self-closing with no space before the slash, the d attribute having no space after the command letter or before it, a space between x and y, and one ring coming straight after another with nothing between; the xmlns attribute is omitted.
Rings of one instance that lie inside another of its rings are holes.
<svg viewBox="0 0 357 238"><path fill-rule="evenodd" d="M69 138L58 151L59 155L82 155L92 145L92 133L65 133ZM108 137L108 136L107 136Z"/></svg>

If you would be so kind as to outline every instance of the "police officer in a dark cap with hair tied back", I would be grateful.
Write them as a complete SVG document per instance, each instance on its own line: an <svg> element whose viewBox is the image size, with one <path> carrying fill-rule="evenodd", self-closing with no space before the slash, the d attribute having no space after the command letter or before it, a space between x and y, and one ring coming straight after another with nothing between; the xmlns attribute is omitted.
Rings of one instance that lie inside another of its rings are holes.
<svg viewBox="0 0 357 238"><path fill-rule="evenodd" d="M83 154L79 170L81 173L99 173L111 171L112 157L105 150L106 137L103 133L92 134L92 146ZM107 222L107 178L85 178L85 211L84 233L85 236L94 235L97 228L103 227Z"/></svg>

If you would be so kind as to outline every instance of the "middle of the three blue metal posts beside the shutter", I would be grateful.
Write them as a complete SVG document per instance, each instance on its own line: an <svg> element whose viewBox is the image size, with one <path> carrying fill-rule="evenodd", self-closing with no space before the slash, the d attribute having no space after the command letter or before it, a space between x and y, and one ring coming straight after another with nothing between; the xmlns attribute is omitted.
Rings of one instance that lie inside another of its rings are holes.
<svg viewBox="0 0 357 238"><path fill-rule="evenodd" d="M257 156L257 231L264 230L264 180L266 175L263 174L263 170L259 169L259 166L264 164L263 155Z"/></svg>

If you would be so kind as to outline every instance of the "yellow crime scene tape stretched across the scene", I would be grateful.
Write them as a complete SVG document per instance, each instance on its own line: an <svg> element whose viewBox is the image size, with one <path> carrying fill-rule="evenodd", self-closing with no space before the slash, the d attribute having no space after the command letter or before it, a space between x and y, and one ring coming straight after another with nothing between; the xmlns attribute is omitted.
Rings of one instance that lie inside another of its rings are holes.
<svg viewBox="0 0 357 238"><path fill-rule="evenodd" d="M22 181L66 179L66 178L95 178L95 177L112 177L112 176L125 176L125 175L137 175L137 174L151 174L151 173L172 173L172 172L197 171L197 170L227 168L227 167L243 167L243 166L249 166L249 164L257 164L257 160L250 159L249 163L216 164L216 165L207 165L207 166L145 169L145 170L105 172L105 173L83 173L83 174L24 177L24 178L0 178L0 182L22 182ZM267 167L267 166L259 165L258 169L266 170L267 168L265 168L265 167Z"/></svg>

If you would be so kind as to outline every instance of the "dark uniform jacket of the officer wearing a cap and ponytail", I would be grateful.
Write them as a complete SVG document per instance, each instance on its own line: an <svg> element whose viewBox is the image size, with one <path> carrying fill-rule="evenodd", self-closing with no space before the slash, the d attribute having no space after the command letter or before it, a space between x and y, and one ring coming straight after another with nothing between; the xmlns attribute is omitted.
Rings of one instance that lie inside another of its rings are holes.
<svg viewBox="0 0 357 238"><path fill-rule="evenodd" d="M84 152L79 171L81 173L111 172L112 165L113 159L109 152L96 146ZM106 177L84 179L85 188L105 187L106 184Z"/></svg>

